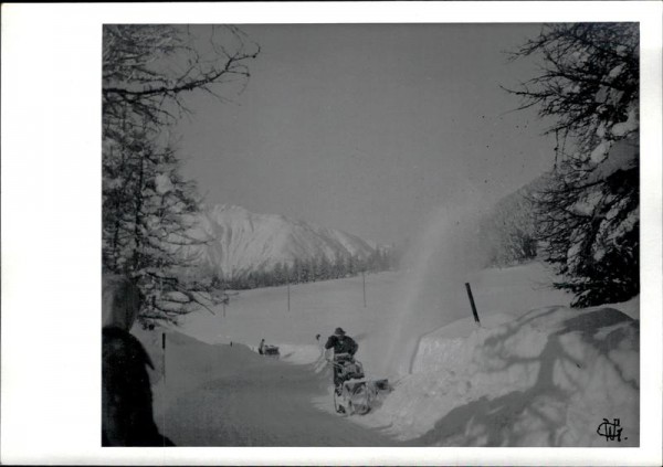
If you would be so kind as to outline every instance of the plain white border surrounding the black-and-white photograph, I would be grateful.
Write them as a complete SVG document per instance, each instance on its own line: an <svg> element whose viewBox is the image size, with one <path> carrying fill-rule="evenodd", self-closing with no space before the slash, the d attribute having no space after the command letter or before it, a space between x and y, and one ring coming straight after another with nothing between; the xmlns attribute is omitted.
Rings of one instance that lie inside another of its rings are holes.
<svg viewBox="0 0 663 467"><path fill-rule="evenodd" d="M661 34L652 1L2 6L0 460L133 465L660 465ZM105 23L641 23L641 447L101 447Z"/></svg>

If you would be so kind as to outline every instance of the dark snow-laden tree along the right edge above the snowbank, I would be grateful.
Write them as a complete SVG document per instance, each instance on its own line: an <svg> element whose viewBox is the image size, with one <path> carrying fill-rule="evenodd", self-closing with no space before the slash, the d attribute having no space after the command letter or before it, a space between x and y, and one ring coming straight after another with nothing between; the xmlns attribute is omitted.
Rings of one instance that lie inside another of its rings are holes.
<svg viewBox="0 0 663 467"><path fill-rule="evenodd" d="M541 73L509 91L555 124L555 170L536 197L546 258L573 306L627 300L639 275L639 29L636 23L548 24L514 56Z"/></svg>

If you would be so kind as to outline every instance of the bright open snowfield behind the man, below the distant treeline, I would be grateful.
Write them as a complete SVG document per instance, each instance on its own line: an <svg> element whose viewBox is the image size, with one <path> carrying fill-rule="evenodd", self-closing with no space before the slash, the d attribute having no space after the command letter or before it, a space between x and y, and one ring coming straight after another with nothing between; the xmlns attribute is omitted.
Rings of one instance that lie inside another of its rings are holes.
<svg viewBox="0 0 663 467"><path fill-rule="evenodd" d="M369 373L399 378L410 370L419 338L462 317L472 316L462 282L453 287L423 287L412 306L412 272L244 290L212 315L199 311L181 321L181 331L208 343L261 339L287 351L286 359L308 363L338 326L360 344L357 357ZM550 275L539 263L509 269L486 269L466 277L482 319L496 314L519 316L536 307L568 305L570 297L547 285ZM486 321L488 322L488 321ZM316 335L320 341L316 341ZM388 357L386 357L388 355ZM402 364L402 363L406 364Z"/></svg>

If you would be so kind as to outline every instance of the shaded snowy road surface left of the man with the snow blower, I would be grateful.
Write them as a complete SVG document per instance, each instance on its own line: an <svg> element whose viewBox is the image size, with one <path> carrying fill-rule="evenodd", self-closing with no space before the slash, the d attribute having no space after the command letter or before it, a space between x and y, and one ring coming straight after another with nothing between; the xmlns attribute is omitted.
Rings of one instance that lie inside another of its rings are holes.
<svg viewBox="0 0 663 467"><path fill-rule="evenodd" d="M178 446L400 446L311 401L328 374L263 358L240 343L208 344L177 331L135 329L154 358L155 421ZM166 371L164 372L164 362ZM327 405L332 397L326 397Z"/></svg>

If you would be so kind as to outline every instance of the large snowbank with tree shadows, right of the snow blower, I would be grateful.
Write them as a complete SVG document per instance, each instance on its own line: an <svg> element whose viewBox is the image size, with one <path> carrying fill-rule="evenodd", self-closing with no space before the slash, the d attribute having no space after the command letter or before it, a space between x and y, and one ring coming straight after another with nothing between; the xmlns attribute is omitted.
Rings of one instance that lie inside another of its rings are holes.
<svg viewBox="0 0 663 467"><path fill-rule="evenodd" d="M362 423L438 446L639 445L639 321L548 307L472 326L422 339L417 371ZM597 434L603 418L620 420L621 442Z"/></svg>

